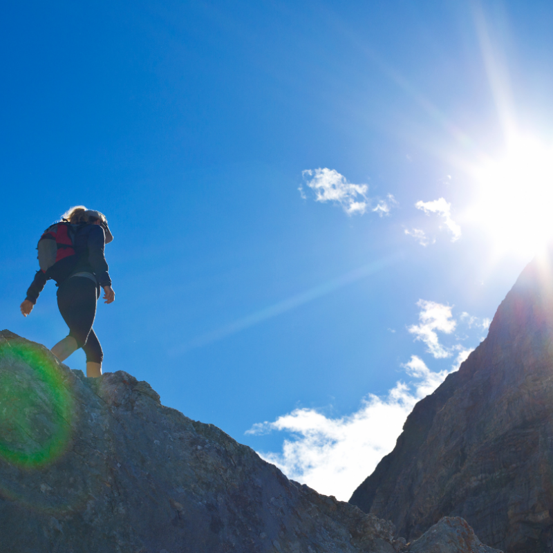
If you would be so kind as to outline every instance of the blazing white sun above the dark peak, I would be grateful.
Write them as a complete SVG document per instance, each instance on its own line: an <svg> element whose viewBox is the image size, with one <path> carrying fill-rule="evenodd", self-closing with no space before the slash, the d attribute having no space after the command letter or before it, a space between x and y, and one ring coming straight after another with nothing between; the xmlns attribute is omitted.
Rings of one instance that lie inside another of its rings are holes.
<svg viewBox="0 0 553 553"><path fill-rule="evenodd" d="M553 146L532 137L508 141L505 152L473 168L476 203L470 218L496 254L531 256L553 238Z"/></svg>

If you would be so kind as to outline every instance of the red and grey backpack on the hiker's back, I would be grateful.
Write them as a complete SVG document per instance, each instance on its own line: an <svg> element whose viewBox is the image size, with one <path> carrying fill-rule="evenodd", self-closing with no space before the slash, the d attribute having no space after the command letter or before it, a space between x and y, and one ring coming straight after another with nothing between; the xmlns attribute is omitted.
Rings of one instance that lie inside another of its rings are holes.
<svg viewBox="0 0 553 553"><path fill-rule="evenodd" d="M68 265L77 262L75 252L75 234L79 225L71 225L68 221L60 221L50 225L37 245L38 260L42 272L52 274L59 265ZM69 259L73 257L73 259ZM59 263L66 259L63 263Z"/></svg>

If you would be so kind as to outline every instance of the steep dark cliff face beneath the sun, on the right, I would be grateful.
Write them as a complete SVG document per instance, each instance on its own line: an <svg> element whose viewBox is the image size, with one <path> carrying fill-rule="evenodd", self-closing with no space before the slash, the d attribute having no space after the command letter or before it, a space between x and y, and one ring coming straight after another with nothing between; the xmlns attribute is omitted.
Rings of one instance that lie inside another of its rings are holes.
<svg viewBox="0 0 553 553"><path fill-rule="evenodd" d="M350 503L408 539L462 516L508 553L553 551L551 256L527 265L485 341L415 406Z"/></svg>

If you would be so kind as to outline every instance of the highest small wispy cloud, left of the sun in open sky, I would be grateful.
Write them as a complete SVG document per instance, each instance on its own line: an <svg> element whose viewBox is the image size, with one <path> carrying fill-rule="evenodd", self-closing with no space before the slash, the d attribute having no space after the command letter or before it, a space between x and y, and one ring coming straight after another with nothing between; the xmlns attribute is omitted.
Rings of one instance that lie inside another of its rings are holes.
<svg viewBox="0 0 553 553"><path fill-rule="evenodd" d="M306 180L306 186L315 192L317 202L341 205L348 215L362 215L370 210L382 217L388 215L391 208L397 205L392 194L388 194L386 200L368 198L367 185L354 185L335 169L306 169L301 174ZM299 192L303 199L307 198L303 186L299 187ZM374 202L376 205L373 206Z"/></svg>

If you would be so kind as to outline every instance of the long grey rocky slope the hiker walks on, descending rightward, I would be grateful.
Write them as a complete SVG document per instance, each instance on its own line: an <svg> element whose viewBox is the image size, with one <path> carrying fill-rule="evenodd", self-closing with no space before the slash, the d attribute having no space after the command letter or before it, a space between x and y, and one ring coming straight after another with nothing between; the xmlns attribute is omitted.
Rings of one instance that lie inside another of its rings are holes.
<svg viewBox="0 0 553 553"><path fill-rule="evenodd" d="M425 538L450 543L438 530ZM491 551L467 543L451 552ZM86 379L44 346L0 332L0 552L409 547L391 523L288 480L220 429L162 406L146 382L122 371Z"/></svg>

